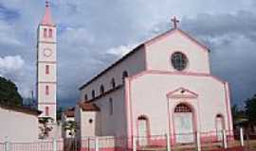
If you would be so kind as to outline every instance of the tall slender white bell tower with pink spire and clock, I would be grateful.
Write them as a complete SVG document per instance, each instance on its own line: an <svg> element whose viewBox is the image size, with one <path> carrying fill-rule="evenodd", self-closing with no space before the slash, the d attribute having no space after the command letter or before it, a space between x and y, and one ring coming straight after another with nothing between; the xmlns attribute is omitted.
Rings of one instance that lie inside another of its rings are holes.
<svg viewBox="0 0 256 151"><path fill-rule="evenodd" d="M46 13L37 29L37 103L41 117L56 122L57 104L57 49L56 25L46 1Z"/></svg>

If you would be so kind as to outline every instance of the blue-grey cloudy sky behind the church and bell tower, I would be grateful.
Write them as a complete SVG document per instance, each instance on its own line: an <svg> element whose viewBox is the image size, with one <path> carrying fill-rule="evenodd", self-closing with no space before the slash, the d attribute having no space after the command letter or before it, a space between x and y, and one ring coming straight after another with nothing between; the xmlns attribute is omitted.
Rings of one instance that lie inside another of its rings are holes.
<svg viewBox="0 0 256 151"><path fill-rule="evenodd" d="M74 105L79 86L138 43L180 27L210 47L213 75L232 101L256 93L255 0L51 0L58 26L58 101ZM35 90L36 28L44 0L0 0L0 76L28 97Z"/></svg>

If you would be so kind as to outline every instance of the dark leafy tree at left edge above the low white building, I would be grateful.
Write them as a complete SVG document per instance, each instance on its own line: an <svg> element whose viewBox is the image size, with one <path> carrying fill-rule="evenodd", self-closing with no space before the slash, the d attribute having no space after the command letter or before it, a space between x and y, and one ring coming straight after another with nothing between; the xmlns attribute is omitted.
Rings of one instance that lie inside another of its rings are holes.
<svg viewBox="0 0 256 151"><path fill-rule="evenodd" d="M0 104L21 106L22 96L12 81L0 76Z"/></svg>

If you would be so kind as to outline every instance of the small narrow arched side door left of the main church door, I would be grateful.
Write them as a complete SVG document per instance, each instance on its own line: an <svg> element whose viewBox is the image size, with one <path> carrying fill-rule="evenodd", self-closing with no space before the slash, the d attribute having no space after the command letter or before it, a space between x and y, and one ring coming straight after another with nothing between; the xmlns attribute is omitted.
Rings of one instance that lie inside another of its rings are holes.
<svg viewBox="0 0 256 151"><path fill-rule="evenodd" d="M137 119L138 143L140 146L148 144L148 119L144 116Z"/></svg>

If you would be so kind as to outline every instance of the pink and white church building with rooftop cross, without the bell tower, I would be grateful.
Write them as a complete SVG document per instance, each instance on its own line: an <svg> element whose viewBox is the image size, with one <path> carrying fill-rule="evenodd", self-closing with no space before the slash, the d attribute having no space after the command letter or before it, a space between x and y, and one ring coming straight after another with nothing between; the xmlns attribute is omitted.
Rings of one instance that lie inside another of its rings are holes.
<svg viewBox="0 0 256 151"><path fill-rule="evenodd" d="M190 143L192 136L174 134L212 131L210 137L218 139L218 131L232 130L228 82L211 75L210 49L178 28L176 20L173 29L138 45L80 91L78 121L85 131L93 128L82 136L169 133L173 143ZM86 111L90 114L80 113Z"/></svg>

